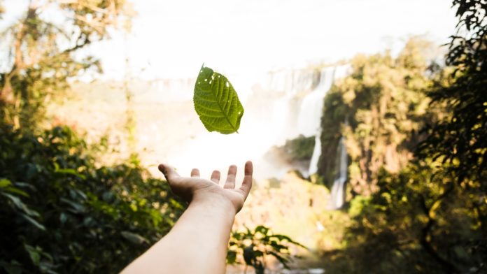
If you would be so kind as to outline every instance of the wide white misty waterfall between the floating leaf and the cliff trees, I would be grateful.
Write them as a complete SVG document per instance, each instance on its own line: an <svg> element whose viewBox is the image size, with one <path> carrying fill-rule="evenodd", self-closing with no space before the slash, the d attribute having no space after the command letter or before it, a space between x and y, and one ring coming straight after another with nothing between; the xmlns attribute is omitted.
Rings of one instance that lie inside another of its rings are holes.
<svg viewBox="0 0 487 274"><path fill-rule="evenodd" d="M321 116L325 95L337 78L348 74L350 66L327 66L320 71L316 69L279 69L270 71L262 80L262 85L253 87L247 115L252 119L253 130L258 127L259 143L264 145L284 145L286 140L302 135L313 136L315 145L309 166L299 166L303 175L308 176L318 171L318 160L321 154ZM254 113L255 117L248 115ZM246 123L243 123L246 124ZM243 134L244 131L242 131ZM330 155L333 157L334 155ZM269 164L269 163L267 163ZM279 170L289 168L284 162L274 161L269 166Z"/></svg>

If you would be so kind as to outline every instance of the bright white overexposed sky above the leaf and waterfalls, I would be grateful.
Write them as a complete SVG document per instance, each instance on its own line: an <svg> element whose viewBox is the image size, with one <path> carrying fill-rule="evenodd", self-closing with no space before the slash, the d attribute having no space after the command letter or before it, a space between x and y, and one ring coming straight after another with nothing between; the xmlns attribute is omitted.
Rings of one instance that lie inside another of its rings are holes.
<svg viewBox="0 0 487 274"><path fill-rule="evenodd" d="M394 52L410 35L446 43L456 24L445 0L133 2L139 15L132 34L114 34L92 48L108 78L124 75L127 56L143 78L195 77L203 62L227 75L252 75L358 52ZM22 3L6 0L7 13Z"/></svg>

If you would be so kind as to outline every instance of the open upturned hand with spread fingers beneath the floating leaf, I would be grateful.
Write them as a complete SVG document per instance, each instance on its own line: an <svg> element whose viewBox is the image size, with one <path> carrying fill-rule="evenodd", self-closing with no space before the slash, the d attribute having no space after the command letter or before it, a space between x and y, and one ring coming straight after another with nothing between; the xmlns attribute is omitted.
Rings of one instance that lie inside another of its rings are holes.
<svg viewBox="0 0 487 274"><path fill-rule="evenodd" d="M220 171L213 171L211 179L206 180L199 178L199 170L193 168L191 178L181 177L171 166L160 164L159 170L166 177L169 186L174 194L181 196L188 202L192 201L228 201L239 212L244 206L250 188L252 187L253 166L251 161L247 161L244 168L244 181L239 189L235 189L235 175L237 175L237 166L228 168L227 181L223 187L218 185L220 182Z"/></svg>

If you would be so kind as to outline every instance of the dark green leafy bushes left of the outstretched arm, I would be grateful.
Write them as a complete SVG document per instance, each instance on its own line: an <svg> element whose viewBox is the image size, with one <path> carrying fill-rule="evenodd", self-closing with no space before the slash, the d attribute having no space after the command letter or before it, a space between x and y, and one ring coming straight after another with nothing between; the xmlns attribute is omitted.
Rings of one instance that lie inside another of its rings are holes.
<svg viewBox="0 0 487 274"><path fill-rule="evenodd" d="M165 182L137 161L97 166L69 127L31 134L2 124L0 136L0 269L7 273L116 273L181 215Z"/></svg>

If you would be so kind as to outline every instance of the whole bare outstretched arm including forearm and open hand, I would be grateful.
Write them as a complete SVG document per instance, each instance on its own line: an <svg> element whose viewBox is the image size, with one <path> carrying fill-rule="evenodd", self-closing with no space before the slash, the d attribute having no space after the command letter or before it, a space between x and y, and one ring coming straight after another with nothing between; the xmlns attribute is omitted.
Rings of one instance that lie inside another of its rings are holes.
<svg viewBox="0 0 487 274"><path fill-rule="evenodd" d="M235 215L244 206L252 187L253 166L247 161L241 187L235 189L237 166L228 168L220 187L220 171L211 179L181 177L165 164L159 170L174 194L190 202L181 218L159 242L129 264L122 273L225 273L225 257Z"/></svg>

